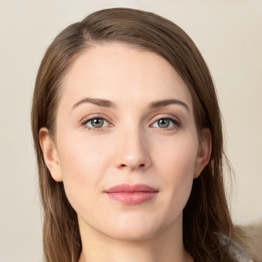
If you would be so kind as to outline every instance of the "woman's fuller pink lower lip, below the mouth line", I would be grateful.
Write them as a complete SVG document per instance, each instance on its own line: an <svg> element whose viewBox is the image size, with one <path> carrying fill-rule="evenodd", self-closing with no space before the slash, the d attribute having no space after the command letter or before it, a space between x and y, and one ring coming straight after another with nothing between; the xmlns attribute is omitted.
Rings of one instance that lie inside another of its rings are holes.
<svg viewBox="0 0 262 262"><path fill-rule="evenodd" d="M139 205L154 199L158 192L114 192L106 193L108 198L123 203L125 205Z"/></svg>

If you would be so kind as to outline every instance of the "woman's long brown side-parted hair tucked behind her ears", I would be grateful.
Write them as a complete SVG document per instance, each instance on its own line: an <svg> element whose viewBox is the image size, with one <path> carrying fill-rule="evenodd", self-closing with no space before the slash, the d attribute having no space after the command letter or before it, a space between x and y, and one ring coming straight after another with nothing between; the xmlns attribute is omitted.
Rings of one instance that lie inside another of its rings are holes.
<svg viewBox="0 0 262 262"><path fill-rule="evenodd" d="M183 211L183 242L194 261L232 261L226 252L235 235L224 190L222 120L208 67L190 37L171 21L153 13L113 8L95 12L64 29L51 43L38 70L32 104L32 132L43 206L43 247L48 262L76 262L81 253L77 215L62 182L52 179L43 160L39 129L55 134L63 81L72 63L94 45L123 42L160 54L180 74L191 93L195 123L212 134L211 159ZM222 241L225 235L228 243Z"/></svg>

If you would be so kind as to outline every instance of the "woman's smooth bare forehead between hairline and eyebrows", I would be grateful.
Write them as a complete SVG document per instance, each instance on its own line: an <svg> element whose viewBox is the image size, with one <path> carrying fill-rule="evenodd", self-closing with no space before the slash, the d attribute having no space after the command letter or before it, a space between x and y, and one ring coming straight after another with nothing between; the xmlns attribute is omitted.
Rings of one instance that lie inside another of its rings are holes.
<svg viewBox="0 0 262 262"><path fill-rule="evenodd" d="M180 99L192 107L190 92L171 64L159 54L123 43L96 45L73 63L61 103L97 97L134 106L156 99Z"/></svg>

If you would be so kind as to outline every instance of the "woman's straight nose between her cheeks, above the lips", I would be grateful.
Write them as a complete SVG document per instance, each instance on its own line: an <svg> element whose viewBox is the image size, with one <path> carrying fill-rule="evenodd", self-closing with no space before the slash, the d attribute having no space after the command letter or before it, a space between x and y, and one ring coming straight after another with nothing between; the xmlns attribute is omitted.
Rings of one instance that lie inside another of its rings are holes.
<svg viewBox="0 0 262 262"><path fill-rule="evenodd" d="M141 130L124 130L118 135L115 165L129 170L146 169L151 165L148 138Z"/></svg>

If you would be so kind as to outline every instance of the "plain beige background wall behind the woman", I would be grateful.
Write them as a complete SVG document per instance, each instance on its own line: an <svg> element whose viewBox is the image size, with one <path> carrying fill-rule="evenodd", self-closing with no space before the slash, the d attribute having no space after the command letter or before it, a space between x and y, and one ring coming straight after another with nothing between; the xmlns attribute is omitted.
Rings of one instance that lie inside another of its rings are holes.
<svg viewBox="0 0 262 262"><path fill-rule="evenodd" d="M261 219L261 0L0 0L0 262L42 260L29 116L42 55L65 26L115 6L163 15L195 41L213 74L226 123L237 176L233 220Z"/></svg>

